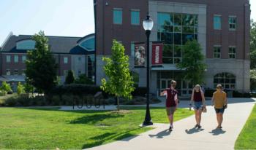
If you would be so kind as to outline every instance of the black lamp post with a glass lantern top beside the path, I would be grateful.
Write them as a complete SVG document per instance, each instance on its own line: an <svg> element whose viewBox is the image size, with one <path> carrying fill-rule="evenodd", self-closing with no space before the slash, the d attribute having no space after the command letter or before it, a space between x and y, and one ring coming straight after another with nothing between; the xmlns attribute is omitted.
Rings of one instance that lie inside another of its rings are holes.
<svg viewBox="0 0 256 150"><path fill-rule="evenodd" d="M151 116L150 116L150 110L149 110L149 36L151 33L151 30L153 28L154 22L151 20L149 15L147 15L146 20L143 20L143 28L146 31L147 36L147 106L146 106L146 116L145 120L143 122L143 125L153 125L153 122L151 122Z"/></svg>

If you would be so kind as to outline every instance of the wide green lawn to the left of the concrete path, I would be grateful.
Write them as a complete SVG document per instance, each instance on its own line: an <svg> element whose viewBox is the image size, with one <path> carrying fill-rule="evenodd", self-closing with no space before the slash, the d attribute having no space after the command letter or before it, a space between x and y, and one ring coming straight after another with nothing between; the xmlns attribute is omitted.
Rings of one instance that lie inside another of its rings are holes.
<svg viewBox="0 0 256 150"><path fill-rule="evenodd" d="M85 149L138 135L145 108L114 111L58 111L56 108L0 108L0 149ZM178 109L175 119L193 111ZM167 123L165 108L152 108L154 122Z"/></svg>

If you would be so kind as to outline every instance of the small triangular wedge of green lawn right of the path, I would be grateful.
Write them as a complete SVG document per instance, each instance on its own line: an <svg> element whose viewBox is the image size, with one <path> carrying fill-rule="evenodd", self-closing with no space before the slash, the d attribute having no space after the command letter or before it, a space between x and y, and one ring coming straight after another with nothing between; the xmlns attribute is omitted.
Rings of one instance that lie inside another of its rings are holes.
<svg viewBox="0 0 256 150"><path fill-rule="evenodd" d="M235 149L256 149L256 105L236 140Z"/></svg>

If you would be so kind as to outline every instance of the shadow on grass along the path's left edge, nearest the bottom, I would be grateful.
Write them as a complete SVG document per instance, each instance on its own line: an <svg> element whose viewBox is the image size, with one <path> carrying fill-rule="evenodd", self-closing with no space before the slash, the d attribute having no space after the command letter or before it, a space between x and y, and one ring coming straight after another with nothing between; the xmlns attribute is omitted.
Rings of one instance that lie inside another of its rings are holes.
<svg viewBox="0 0 256 150"><path fill-rule="evenodd" d="M94 137L89 138L90 140L93 140L94 142L91 143L86 143L83 145L82 149L88 149L94 146L100 146L102 145L104 142L108 142L108 141L129 141L132 138L137 137L138 135L132 134L130 132L135 131L138 129L134 129L134 130L129 130L123 133L104 133L102 135L97 135Z"/></svg>

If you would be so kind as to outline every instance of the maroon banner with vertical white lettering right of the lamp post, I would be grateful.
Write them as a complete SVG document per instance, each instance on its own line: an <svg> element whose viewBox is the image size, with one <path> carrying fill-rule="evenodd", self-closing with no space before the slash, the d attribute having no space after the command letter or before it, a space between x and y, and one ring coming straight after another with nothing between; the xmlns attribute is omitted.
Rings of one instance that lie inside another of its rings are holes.
<svg viewBox="0 0 256 150"><path fill-rule="evenodd" d="M162 43L152 44L152 65L162 65Z"/></svg>

